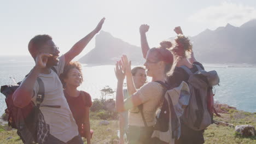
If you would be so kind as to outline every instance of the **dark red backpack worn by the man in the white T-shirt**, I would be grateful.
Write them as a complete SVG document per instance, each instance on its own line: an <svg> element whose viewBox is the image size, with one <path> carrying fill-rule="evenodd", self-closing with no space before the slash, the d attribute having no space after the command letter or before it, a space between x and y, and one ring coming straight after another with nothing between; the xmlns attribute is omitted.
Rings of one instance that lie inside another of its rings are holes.
<svg viewBox="0 0 256 144"><path fill-rule="evenodd" d="M56 73L55 68L51 69ZM39 122L40 117L42 117L39 107L44 100L44 83L39 77L37 78L37 82L39 89L36 95L36 105L33 101L30 101L30 104L23 108L16 107L12 99L13 93L19 88L21 81L18 82L17 85L1 86L1 93L5 95L5 103L7 105L5 113L8 115L8 125L11 128L17 129L17 134L25 144L43 143L44 139L42 140L41 137L39 137L38 140L38 136L44 135L46 137L49 134L49 127L45 128L44 125ZM38 134L38 129L42 133Z"/></svg>

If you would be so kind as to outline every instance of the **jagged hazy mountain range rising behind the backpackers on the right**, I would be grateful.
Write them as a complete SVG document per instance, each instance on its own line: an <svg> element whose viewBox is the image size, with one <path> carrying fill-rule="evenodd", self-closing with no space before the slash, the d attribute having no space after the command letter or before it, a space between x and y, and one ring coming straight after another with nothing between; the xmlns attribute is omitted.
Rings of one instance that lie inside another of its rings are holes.
<svg viewBox="0 0 256 144"><path fill-rule="evenodd" d="M215 31L206 29L190 39L201 62L256 64L256 19L240 27L228 23Z"/></svg>

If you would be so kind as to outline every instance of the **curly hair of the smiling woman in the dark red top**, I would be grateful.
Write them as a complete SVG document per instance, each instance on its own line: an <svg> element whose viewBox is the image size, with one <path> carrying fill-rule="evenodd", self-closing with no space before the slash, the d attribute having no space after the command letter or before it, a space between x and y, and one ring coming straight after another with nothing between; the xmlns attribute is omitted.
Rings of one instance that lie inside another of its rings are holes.
<svg viewBox="0 0 256 144"><path fill-rule="evenodd" d="M83 73L82 73L82 65L78 61L69 62L69 64L65 65L63 73L60 75L60 80L62 82L63 88L65 87L66 83L64 79L68 77L68 73L71 69L77 69L81 75L82 82L83 82Z"/></svg>

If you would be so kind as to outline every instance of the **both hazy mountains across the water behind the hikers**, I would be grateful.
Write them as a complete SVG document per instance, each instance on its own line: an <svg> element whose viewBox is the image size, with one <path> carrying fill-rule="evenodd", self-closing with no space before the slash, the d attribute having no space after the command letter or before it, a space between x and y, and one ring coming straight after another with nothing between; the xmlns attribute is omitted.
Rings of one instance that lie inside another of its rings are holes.
<svg viewBox="0 0 256 144"><path fill-rule="evenodd" d="M196 59L202 63L256 64L256 19L240 27L228 23L214 31L206 29L189 38L193 43ZM79 61L88 64L113 64L123 53L133 64L144 62L140 47L101 31L96 36L95 48Z"/></svg>

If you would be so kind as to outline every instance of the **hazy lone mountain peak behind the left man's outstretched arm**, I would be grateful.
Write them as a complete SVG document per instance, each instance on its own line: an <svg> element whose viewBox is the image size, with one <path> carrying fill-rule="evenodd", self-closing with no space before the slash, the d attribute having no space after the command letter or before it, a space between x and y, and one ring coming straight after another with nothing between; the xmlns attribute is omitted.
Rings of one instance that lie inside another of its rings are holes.
<svg viewBox="0 0 256 144"><path fill-rule="evenodd" d="M86 64L115 64L123 54L132 61L132 64L143 63L141 47L131 45L114 38L110 33L101 31L96 35L95 48L79 59Z"/></svg>

